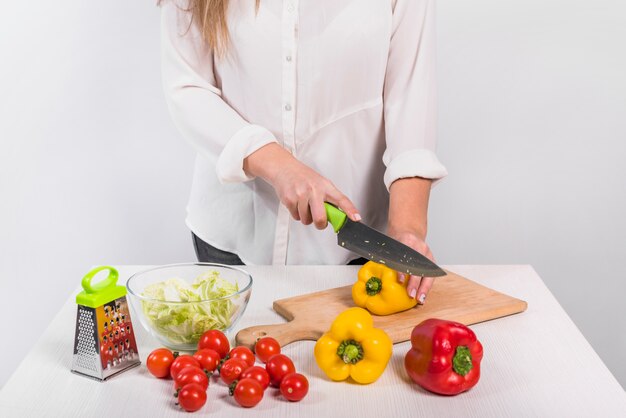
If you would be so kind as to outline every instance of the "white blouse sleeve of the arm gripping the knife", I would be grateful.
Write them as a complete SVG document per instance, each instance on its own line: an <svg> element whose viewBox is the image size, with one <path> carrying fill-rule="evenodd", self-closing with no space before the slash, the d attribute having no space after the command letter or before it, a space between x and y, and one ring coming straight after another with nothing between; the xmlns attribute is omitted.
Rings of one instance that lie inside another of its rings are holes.
<svg viewBox="0 0 626 418"><path fill-rule="evenodd" d="M170 114L182 135L216 159L222 183L251 180L244 159L276 142L266 128L244 120L224 101L213 70L213 54L180 1L161 6L161 70Z"/></svg>

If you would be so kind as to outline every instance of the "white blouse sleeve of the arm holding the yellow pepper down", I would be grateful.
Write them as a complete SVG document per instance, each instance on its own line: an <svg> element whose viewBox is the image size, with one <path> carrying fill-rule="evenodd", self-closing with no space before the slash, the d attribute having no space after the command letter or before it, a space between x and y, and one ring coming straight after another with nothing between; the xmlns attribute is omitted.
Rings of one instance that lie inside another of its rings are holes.
<svg viewBox="0 0 626 418"><path fill-rule="evenodd" d="M383 96L387 189L400 178L434 184L448 174L435 154L435 35L434 0L397 0Z"/></svg>

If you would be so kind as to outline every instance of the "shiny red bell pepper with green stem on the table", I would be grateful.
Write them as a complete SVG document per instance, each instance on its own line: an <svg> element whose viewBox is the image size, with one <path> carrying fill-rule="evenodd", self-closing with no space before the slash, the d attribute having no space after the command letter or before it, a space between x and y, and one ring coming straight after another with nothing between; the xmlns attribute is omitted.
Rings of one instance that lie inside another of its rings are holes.
<svg viewBox="0 0 626 418"><path fill-rule="evenodd" d="M434 393L456 395L480 379L483 346L463 324L427 319L413 328L404 367L411 379Z"/></svg>

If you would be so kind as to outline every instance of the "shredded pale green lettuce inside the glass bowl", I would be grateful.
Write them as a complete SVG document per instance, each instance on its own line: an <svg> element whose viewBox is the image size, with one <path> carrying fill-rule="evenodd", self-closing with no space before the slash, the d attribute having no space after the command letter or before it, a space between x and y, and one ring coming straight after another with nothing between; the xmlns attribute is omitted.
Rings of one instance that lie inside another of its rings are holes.
<svg viewBox="0 0 626 418"><path fill-rule="evenodd" d="M155 330L174 344L195 344L209 329L225 330L237 310L231 299L212 302L239 291L235 283L220 277L217 271L207 271L190 285L173 278L146 286L142 295L163 302L197 302L189 304L142 301L143 312Z"/></svg>

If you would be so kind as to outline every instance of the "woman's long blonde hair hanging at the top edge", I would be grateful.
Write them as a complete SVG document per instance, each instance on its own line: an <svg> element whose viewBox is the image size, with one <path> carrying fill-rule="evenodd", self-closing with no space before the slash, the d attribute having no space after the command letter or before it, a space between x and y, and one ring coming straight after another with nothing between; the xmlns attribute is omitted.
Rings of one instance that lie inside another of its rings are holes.
<svg viewBox="0 0 626 418"><path fill-rule="evenodd" d="M161 4L163 0L158 0ZM255 0L258 12L260 0ZM195 24L204 41L217 56L223 56L228 50L228 0L189 0L185 9L191 13L191 24Z"/></svg>

